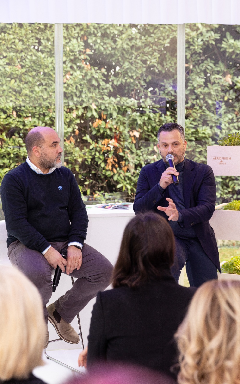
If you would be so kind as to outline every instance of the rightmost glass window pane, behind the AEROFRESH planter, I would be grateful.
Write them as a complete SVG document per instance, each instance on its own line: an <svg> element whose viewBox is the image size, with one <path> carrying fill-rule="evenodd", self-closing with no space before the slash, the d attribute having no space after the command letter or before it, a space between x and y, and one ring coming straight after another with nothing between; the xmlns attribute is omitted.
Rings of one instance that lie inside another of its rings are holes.
<svg viewBox="0 0 240 384"><path fill-rule="evenodd" d="M186 26L187 157L207 162L207 146L240 129L240 27ZM240 143L239 143L240 144ZM240 199L239 177L216 177L217 203Z"/></svg>

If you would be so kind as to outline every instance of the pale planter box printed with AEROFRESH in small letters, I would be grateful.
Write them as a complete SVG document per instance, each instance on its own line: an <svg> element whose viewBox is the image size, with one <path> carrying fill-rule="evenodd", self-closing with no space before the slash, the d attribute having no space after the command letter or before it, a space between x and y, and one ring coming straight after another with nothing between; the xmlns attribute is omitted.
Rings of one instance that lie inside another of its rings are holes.
<svg viewBox="0 0 240 384"><path fill-rule="evenodd" d="M208 146L207 164L215 176L240 176L240 146Z"/></svg>

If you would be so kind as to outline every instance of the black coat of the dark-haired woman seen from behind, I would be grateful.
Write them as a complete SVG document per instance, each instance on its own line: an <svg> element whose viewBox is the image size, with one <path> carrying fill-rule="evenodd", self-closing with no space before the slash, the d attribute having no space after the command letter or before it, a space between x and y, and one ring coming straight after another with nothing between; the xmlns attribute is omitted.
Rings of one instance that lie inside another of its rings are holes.
<svg viewBox="0 0 240 384"><path fill-rule="evenodd" d="M177 362L173 335L195 290L166 275L136 289L99 292L88 336L88 368L97 361L122 361L169 374Z"/></svg>

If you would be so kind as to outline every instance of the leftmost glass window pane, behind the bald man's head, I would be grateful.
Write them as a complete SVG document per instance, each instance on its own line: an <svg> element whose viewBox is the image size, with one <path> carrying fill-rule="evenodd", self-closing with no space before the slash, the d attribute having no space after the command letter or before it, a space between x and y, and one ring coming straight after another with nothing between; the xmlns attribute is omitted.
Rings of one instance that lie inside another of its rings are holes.
<svg viewBox="0 0 240 384"><path fill-rule="evenodd" d="M0 24L0 179L25 161L34 126L55 125L54 26Z"/></svg>

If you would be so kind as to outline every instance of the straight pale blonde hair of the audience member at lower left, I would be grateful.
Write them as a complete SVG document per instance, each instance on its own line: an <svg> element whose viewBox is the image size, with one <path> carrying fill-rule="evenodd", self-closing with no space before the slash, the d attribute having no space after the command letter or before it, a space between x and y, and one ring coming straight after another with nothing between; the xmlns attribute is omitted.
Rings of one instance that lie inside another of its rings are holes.
<svg viewBox="0 0 240 384"><path fill-rule="evenodd" d="M27 379L43 364L45 335L37 288L16 268L0 266L0 381Z"/></svg>

